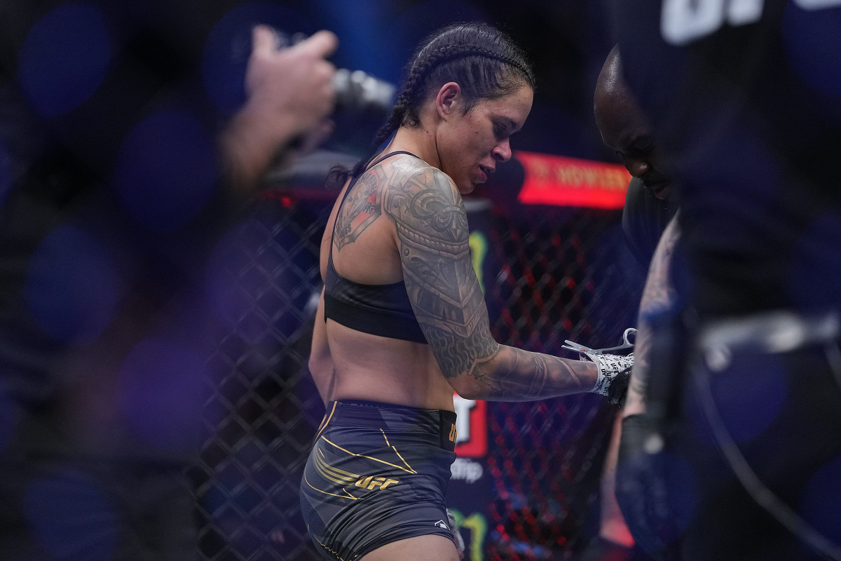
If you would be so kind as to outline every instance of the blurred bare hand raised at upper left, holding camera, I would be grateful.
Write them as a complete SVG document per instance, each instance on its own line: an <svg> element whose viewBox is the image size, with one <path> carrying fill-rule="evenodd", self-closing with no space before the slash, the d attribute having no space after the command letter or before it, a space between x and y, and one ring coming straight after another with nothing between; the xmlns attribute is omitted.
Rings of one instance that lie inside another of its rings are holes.
<svg viewBox="0 0 841 561"><path fill-rule="evenodd" d="M335 34L319 31L292 47L278 49L274 31L258 25L252 41L246 69L248 98L220 143L238 189L253 188L290 141L321 130L336 103L336 68L325 60L338 46Z"/></svg>

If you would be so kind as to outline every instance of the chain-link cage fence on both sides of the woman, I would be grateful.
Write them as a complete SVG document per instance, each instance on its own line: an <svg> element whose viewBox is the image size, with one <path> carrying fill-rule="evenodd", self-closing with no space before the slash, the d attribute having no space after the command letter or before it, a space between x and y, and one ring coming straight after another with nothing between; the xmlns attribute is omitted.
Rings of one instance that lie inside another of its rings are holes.
<svg viewBox="0 0 841 561"><path fill-rule="evenodd" d="M275 195L214 260L226 323L211 357L202 464L192 474L207 561L318 558L298 486L324 413L305 364L332 200ZM642 272L621 241L619 212L473 204L468 214L484 238L471 246L497 341L574 357L561 348L565 339L609 347L633 325ZM484 558L569 558L597 531L616 411L590 394L488 411L495 500Z"/></svg>

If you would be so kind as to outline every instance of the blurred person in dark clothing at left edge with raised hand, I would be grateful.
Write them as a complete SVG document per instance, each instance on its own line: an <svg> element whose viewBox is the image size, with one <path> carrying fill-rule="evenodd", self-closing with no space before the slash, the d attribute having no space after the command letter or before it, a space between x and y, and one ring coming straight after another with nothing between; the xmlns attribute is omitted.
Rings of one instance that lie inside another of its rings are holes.
<svg viewBox="0 0 841 561"><path fill-rule="evenodd" d="M234 7L0 8L0 558L198 558L204 259L336 95L335 35L257 26L216 106Z"/></svg>

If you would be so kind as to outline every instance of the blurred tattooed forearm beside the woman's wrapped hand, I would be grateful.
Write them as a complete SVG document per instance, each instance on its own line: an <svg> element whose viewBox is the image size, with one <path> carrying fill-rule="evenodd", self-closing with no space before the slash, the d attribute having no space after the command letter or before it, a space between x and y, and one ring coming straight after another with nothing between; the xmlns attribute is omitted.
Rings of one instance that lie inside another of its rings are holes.
<svg viewBox="0 0 841 561"><path fill-rule="evenodd" d="M679 213L680 214L680 213ZM646 410L645 393L648 389L648 373L651 368L651 325L646 318L656 310L674 304L674 287L669 279L674 248L680 239L677 214L669 221L648 268L648 278L639 303L637 339L634 341L634 368L625 401L623 415L635 415Z"/></svg>

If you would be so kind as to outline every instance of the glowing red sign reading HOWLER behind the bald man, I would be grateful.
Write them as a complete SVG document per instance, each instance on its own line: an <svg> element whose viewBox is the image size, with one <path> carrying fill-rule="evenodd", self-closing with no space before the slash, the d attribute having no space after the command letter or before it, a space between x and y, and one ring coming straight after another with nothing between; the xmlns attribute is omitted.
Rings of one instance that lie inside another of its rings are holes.
<svg viewBox="0 0 841 561"><path fill-rule="evenodd" d="M526 171L522 204L621 209L631 174L618 164L516 151Z"/></svg>

